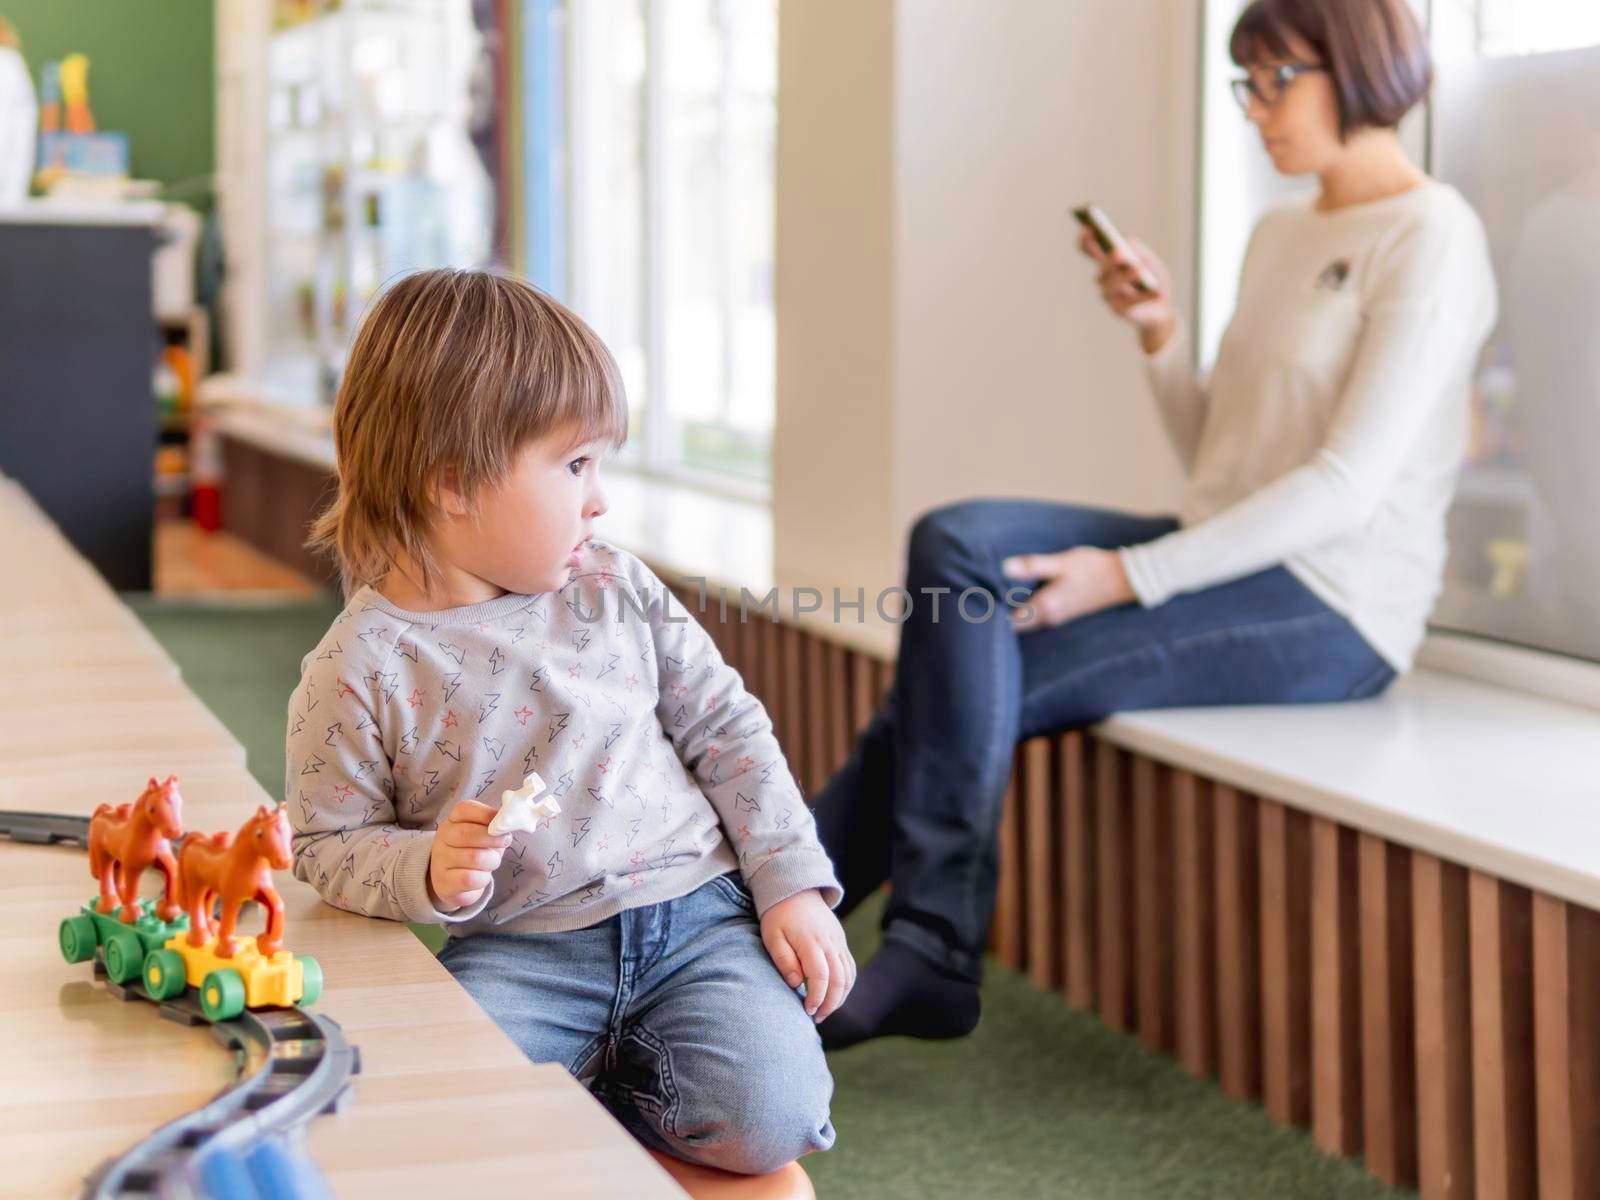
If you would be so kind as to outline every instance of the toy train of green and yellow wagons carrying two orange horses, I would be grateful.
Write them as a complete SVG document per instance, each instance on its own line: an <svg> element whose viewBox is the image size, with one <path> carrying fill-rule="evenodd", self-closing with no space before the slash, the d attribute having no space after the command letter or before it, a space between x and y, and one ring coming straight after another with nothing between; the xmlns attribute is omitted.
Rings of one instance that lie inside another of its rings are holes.
<svg viewBox="0 0 1600 1200"><path fill-rule="evenodd" d="M61 923L62 957L99 954L114 984L157 1002L194 987L208 1021L315 1003L322 966L283 949L283 901L272 886L272 872L293 862L288 814L261 805L237 835L186 835L181 824L176 776L152 778L134 805L94 811L90 866L101 894ZM181 838L176 856L165 838ZM158 902L138 894L152 864L166 875ZM267 912L261 936L235 934L246 901Z"/></svg>

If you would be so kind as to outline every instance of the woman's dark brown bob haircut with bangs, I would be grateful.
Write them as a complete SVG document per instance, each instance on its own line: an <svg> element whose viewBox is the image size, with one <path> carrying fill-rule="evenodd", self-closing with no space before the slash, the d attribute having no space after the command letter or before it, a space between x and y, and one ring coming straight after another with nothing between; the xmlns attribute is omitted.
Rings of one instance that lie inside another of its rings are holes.
<svg viewBox="0 0 1600 1200"><path fill-rule="evenodd" d="M1427 38L1406 0L1254 0L1227 50L1242 67L1301 61L1291 40L1328 69L1341 139L1368 126L1392 130L1434 82Z"/></svg>

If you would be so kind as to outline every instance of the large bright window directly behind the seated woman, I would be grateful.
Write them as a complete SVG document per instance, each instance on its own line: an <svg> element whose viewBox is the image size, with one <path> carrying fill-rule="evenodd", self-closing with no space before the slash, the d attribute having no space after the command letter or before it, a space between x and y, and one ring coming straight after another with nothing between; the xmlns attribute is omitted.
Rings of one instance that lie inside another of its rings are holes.
<svg viewBox="0 0 1600 1200"><path fill-rule="evenodd" d="M1421 8L1421 5L1418 5ZM1435 629L1600 659L1600 8L1434 0L1437 83L1402 125L1488 230L1499 326L1472 395ZM1242 0L1205 18L1197 347L1216 354L1277 178L1227 94Z"/></svg>

